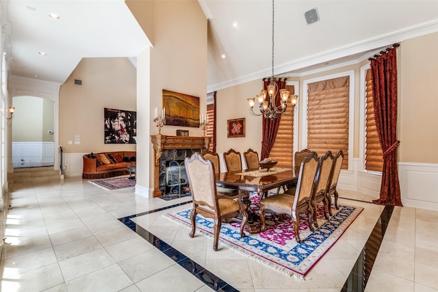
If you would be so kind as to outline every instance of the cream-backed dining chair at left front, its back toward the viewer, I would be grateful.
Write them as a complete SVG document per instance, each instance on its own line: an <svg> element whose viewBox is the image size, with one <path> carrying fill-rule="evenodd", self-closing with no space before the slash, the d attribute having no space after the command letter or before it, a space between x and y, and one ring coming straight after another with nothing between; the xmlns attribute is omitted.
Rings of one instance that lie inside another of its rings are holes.
<svg viewBox="0 0 438 292"><path fill-rule="evenodd" d="M213 250L218 250L220 227L224 219L242 215L240 237L245 237L244 226L248 221L248 212L242 203L243 194L236 196L218 194L213 164L204 159L198 152L195 152L191 157L186 157L184 164L193 201L193 208L190 212L190 222L192 222L190 237L194 237L196 232L196 215L198 213L214 219Z"/></svg>

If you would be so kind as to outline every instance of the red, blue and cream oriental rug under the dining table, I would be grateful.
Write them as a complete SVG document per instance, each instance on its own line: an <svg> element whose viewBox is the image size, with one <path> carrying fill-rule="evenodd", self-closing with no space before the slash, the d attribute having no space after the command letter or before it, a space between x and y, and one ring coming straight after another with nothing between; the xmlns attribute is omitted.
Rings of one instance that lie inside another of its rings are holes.
<svg viewBox="0 0 438 292"><path fill-rule="evenodd" d="M249 211L258 213L259 196L251 196ZM309 229L307 214L300 214L300 238L295 240L294 226L290 217L283 221L274 213L266 213L266 231L258 234L240 237L240 223L222 224L219 235L219 245L227 244L237 252L250 256L255 260L278 271L304 277L320 258L335 244L344 231L357 218L363 208L339 205L339 210L332 207L333 216L326 220L323 215L323 205L317 204L319 228ZM168 213L166 217L191 228L190 211L184 209ZM260 223L261 224L261 223ZM213 220L202 215L196 216L196 233L213 237Z"/></svg>

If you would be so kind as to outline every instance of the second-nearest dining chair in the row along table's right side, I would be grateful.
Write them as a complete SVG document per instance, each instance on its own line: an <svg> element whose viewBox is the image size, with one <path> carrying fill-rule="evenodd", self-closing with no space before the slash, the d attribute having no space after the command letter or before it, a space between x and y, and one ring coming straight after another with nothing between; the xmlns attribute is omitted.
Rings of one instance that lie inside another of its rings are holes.
<svg viewBox="0 0 438 292"><path fill-rule="evenodd" d="M326 154L320 158L318 162L318 172L315 177L315 187L313 188L313 194L311 204L313 207L313 225L318 228L318 213L316 204L324 203L324 217L329 219L329 201L326 198L327 186L329 185L330 174L333 166L333 154L331 151L327 151Z"/></svg>

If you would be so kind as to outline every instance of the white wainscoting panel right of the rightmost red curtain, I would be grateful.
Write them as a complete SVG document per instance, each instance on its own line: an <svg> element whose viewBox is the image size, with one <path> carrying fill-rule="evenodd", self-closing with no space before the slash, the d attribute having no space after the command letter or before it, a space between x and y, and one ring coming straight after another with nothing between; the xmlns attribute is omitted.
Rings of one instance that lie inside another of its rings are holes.
<svg viewBox="0 0 438 292"><path fill-rule="evenodd" d="M398 164L404 206L438 210L438 164Z"/></svg>

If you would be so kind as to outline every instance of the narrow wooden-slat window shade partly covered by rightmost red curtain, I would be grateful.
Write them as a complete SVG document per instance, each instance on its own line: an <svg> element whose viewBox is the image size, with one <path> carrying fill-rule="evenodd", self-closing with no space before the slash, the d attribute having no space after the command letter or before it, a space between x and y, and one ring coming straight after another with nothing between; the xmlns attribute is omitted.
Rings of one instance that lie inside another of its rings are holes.
<svg viewBox="0 0 438 292"><path fill-rule="evenodd" d="M365 170L382 172L383 151L378 140L376 120L374 120L370 69L366 70L365 73L365 98Z"/></svg>

